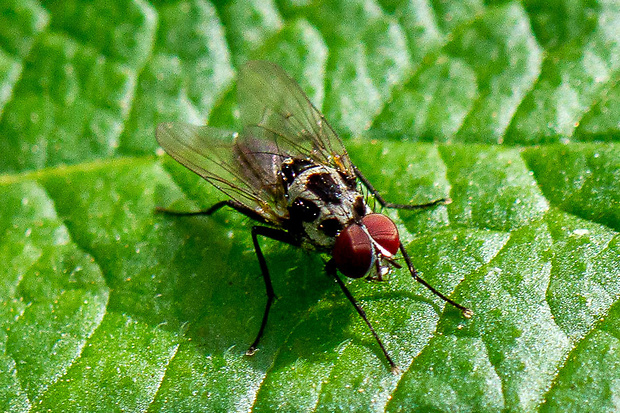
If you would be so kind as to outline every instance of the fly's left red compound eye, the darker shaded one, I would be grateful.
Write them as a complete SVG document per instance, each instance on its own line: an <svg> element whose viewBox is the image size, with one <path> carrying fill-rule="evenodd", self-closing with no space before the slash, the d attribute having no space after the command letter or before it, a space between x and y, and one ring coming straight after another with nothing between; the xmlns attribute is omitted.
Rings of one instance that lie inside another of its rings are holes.
<svg viewBox="0 0 620 413"><path fill-rule="evenodd" d="M332 255L341 273L350 278L360 278L372 265L372 243L362 227L352 224L338 234Z"/></svg>

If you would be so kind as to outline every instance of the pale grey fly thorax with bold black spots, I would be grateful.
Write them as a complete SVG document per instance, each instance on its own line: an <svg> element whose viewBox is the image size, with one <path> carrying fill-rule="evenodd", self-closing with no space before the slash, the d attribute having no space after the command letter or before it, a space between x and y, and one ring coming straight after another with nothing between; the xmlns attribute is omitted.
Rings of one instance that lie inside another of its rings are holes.
<svg viewBox="0 0 620 413"><path fill-rule="evenodd" d="M290 230L318 249L330 250L336 235L370 213L355 179L306 159L287 159L281 178Z"/></svg>

